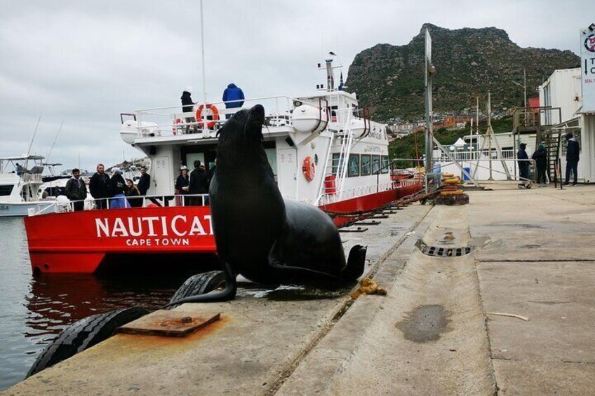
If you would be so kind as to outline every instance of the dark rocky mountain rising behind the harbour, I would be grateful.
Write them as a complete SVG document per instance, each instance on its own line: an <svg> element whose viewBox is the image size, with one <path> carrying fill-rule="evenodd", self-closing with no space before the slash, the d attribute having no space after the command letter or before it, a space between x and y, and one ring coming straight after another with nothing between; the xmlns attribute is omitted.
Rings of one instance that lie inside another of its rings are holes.
<svg viewBox="0 0 595 396"><path fill-rule="evenodd" d="M424 24L406 46L377 44L361 51L349 66L345 90L357 93L360 107L372 118L387 121L399 116L414 120L424 115L424 36L432 36L434 111L485 108L488 91L492 109L523 106L523 69L527 97L555 69L578 67L580 57L569 50L521 48L502 29L444 29ZM536 31L537 33L537 31Z"/></svg>

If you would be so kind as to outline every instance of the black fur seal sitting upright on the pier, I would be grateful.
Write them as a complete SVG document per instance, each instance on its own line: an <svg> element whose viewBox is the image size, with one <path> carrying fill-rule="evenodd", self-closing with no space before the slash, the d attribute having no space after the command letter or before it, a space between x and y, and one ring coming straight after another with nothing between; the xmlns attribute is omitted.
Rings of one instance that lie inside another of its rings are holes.
<svg viewBox="0 0 595 396"><path fill-rule="evenodd" d="M226 286L177 303L234 299L237 274L283 284L356 280L363 273L365 247L354 246L346 263L330 217L318 207L283 200L262 146L264 123L265 109L257 104L234 114L218 131L209 202Z"/></svg>

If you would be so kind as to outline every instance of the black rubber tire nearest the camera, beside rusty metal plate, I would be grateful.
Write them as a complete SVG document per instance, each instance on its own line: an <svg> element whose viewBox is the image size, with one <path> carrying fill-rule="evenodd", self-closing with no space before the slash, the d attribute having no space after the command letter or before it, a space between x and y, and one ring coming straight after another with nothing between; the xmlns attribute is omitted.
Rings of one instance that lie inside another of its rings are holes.
<svg viewBox="0 0 595 396"><path fill-rule="evenodd" d="M109 339L116 328L147 315L147 313L149 311L145 308L133 307L91 315L74 322L64 329L58 338L52 341L37 357L29 369L27 377Z"/></svg>

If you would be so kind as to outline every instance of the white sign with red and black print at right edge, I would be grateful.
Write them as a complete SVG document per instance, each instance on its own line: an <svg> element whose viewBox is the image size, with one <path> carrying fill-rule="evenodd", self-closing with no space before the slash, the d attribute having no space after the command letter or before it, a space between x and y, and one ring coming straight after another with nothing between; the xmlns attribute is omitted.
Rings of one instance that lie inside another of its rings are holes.
<svg viewBox="0 0 595 396"><path fill-rule="evenodd" d="M595 24L580 32L582 111L595 111Z"/></svg>

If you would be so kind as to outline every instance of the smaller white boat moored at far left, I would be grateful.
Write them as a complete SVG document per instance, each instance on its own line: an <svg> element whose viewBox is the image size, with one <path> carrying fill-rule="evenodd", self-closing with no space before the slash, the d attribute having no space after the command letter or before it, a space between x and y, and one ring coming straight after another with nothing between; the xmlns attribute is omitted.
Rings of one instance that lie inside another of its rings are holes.
<svg viewBox="0 0 595 396"><path fill-rule="evenodd" d="M29 208L39 210L54 203L38 196L44 183L43 161L42 156L0 158L0 217L27 216Z"/></svg>

